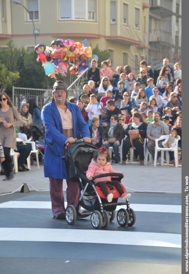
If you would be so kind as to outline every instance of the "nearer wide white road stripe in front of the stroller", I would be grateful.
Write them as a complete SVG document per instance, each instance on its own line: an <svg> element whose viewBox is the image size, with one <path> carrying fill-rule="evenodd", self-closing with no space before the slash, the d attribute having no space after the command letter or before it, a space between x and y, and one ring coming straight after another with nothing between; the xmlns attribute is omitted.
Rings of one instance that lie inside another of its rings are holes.
<svg viewBox="0 0 189 274"><path fill-rule="evenodd" d="M110 230L0 228L0 241L83 242L181 248L181 234Z"/></svg>

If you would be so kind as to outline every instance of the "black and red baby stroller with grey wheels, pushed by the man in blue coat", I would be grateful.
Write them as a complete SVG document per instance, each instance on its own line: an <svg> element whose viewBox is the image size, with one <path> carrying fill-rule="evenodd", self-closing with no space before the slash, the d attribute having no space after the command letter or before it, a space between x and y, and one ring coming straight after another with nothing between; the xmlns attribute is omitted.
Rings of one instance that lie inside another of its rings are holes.
<svg viewBox="0 0 189 274"><path fill-rule="evenodd" d="M69 178L79 184L81 197L76 208L68 205L66 208L66 222L70 225L74 224L77 218L85 218L91 215L91 225L94 229L106 228L109 222L112 222L115 217L116 206L126 205L127 209L121 208L117 212L117 222L120 226L132 226L136 221L136 214L129 206L128 199L125 202L117 202L120 197L119 192L113 185L108 185L110 193L113 194L112 202L108 202L102 193L101 189L94 184L95 178L103 178L106 176L117 176L117 181L123 178L122 173L105 173L93 177L90 181L86 177L86 171L98 148L92 144L77 140L74 143L67 142L66 153L63 160L69 163ZM121 175L121 176L120 176ZM125 187L122 185L123 189ZM126 191L126 190L125 190ZM83 207L88 212L80 213L79 207Z"/></svg>

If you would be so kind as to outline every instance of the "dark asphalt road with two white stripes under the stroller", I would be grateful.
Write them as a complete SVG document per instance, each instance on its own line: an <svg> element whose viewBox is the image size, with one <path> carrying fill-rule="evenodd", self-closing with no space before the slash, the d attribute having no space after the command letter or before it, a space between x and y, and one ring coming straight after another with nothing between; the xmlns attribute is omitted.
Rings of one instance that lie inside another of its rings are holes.
<svg viewBox="0 0 189 274"><path fill-rule="evenodd" d="M49 193L0 199L0 273L181 273L181 195L135 193L133 227L52 218Z"/></svg>

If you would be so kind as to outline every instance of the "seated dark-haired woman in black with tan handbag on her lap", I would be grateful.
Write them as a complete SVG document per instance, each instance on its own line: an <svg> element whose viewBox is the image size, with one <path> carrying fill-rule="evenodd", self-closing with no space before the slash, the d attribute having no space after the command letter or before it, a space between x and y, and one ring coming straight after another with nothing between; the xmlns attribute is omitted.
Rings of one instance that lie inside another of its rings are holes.
<svg viewBox="0 0 189 274"><path fill-rule="evenodd" d="M131 147L135 147L137 155L140 157L140 165L144 165L144 139L146 138L147 124L143 122L139 112L132 116L132 123L129 123L125 130L127 137L123 141L122 165L126 164L127 153Z"/></svg>

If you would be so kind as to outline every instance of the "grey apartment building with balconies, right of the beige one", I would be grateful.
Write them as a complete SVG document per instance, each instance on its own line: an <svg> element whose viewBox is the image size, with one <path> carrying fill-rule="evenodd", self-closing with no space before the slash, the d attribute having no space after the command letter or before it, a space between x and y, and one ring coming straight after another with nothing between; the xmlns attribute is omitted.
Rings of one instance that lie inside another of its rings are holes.
<svg viewBox="0 0 189 274"><path fill-rule="evenodd" d="M181 0L150 0L149 58L181 61Z"/></svg>

